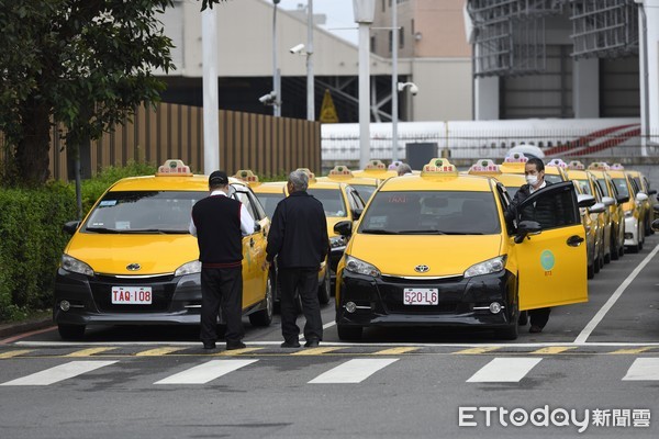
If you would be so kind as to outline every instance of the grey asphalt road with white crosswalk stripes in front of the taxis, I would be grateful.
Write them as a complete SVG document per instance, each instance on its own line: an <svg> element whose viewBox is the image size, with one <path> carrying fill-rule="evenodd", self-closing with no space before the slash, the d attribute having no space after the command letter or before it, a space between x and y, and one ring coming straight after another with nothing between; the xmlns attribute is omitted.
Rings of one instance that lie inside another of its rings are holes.
<svg viewBox="0 0 659 439"><path fill-rule="evenodd" d="M659 437L659 238L541 334L367 330L287 351L278 318L212 354L198 328L0 340L0 438ZM299 324L303 324L300 318Z"/></svg>

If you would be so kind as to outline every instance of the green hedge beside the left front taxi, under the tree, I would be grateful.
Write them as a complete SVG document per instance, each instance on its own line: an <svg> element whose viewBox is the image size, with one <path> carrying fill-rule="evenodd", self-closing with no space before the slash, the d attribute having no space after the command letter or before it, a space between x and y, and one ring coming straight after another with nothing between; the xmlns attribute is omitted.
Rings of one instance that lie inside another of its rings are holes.
<svg viewBox="0 0 659 439"><path fill-rule="evenodd" d="M124 177L154 173L156 167L111 167L82 182L86 213L111 184ZM75 184L40 189L0 188L0 322L24 318L52 306L55 272L70 236L64 223L77 218Z"/></svg>

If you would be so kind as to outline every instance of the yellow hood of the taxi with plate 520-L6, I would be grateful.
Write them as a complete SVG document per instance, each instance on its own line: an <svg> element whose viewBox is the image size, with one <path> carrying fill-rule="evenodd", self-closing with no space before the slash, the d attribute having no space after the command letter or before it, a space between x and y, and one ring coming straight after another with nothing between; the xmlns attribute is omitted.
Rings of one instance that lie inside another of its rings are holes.
<svg viewBox="0 0 659 439"><path fill-rule="evenodd" d="M353 236L348 254L371 263L382 274L460 275L474 263L501 255L501 235L366 235ZM427 266L420 273L417 266Z"/></svg>

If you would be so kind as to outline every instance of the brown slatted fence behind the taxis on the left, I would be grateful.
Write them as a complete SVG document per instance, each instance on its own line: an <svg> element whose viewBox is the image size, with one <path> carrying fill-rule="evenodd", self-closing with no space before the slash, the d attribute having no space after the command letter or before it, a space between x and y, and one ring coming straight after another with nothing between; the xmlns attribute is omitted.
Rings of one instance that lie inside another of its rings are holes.
<svg viewBox="0 0 659 439"><path fill-rule="evenodd" d="M252 169L276 176L304 167L321 170L321 124L306 120L220 110L220 167L233 173ZM3 142L0 138L0 145ZM160 103L137 109L132 120L91 144L91 169L134 160L154 165L168 158L183 160L203 173L203 110ZM0 149L0 161L5 148ZM55 180L68 180L66 147L57 127L51 133L49 170Z"/></svg>

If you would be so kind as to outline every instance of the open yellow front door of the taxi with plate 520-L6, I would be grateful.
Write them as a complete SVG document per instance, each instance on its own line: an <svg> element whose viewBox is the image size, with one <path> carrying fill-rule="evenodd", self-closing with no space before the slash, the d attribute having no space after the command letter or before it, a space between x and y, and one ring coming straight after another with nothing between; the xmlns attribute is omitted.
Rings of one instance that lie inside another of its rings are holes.
<svg viewBox="0 0 659 439"><path fill-rule="evenodd" d="M538 210L545 214L533 216ZM516 219L517 224L530 219L540 225L539 233L513 244L517 255L520 309L587 302L585 230L572 182L549 184L535 192L520 204Z"/></svg>

